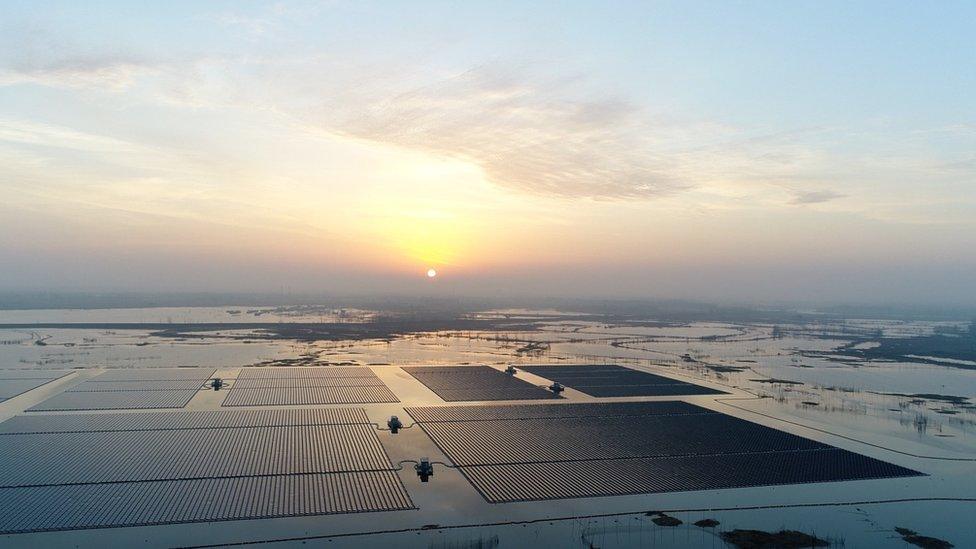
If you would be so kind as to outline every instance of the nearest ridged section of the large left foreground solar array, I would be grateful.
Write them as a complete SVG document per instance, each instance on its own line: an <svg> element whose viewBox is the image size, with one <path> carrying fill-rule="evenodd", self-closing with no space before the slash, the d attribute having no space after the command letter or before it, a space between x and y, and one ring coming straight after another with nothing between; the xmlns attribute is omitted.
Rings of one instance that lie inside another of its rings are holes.
<svg viewBox="0 0 976 549"><path fill-rule="evenodd" d="M0 533L412 508L393 471L0 488Z"/></svg>

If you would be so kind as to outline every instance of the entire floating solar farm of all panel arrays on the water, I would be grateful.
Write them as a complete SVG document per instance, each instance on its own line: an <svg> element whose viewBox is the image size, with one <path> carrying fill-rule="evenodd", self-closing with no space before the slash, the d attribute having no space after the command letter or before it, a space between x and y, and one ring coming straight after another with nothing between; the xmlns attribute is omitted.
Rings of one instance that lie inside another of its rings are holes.
<svg viewBox="0 0 976 549"><path fill-rule="evenodd" d="M519 369L535 381L469 365L238 368L218 393L213 368L106 370L0 423L0 534L422 510L415 460L390 457L417 447L461 473L440 497L486 505L921 474L683 400L726 394L702 384ZM68 373L0 371L0 398ZM418 428L381 434L391 414Z"/></svg>

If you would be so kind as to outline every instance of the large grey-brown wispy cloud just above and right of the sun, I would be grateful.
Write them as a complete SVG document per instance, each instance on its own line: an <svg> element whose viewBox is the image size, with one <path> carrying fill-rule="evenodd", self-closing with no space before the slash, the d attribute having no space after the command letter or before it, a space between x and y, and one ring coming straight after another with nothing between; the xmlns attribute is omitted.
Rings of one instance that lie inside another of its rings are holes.
<svg viewBox="0 0 976 549"><path fill-rule="evenodd" d="M691 185L650 146L640 110L582 100L488 68L347 105L327 124L343 135L459 158L518 191L597 199L651 198Z"/></svg>

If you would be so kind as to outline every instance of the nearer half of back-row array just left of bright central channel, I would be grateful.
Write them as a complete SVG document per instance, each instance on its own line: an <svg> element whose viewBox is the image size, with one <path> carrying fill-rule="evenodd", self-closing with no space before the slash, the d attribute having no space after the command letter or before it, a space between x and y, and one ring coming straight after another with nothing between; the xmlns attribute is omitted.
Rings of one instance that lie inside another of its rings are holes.
<svg viewBox="0 0 976 549"><path fill-rule="evenodd" d="M284 406L294 404L380 404L400 400L386 386L286 387L240 389L232 387L221 406Z"/></svg>

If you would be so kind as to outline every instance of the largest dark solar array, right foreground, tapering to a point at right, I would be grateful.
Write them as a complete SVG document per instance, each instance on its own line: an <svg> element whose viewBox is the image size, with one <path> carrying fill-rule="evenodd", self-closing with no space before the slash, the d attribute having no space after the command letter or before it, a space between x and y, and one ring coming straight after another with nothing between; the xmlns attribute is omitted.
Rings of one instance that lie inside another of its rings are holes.
<svg viewBox="0 0 976 549"><path fill-rule="evenodd" d="M491 503L920 474L687 403L407 412Z"/></svg>

